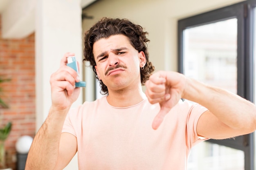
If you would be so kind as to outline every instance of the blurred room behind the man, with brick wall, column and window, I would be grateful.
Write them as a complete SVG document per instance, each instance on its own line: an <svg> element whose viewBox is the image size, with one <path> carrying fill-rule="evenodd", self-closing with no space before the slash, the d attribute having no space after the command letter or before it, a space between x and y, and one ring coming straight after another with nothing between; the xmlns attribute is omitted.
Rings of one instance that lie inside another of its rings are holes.
<svg viewBox="0 0 256 170"><path fill-rule="evenodd" d="M256 0L1 0L0 169L25 169L65 53L74 53L86 82L71 107L105 96L83 62L84 33L103 17L126 18L148 32L155 72L182 73L255 104L255 9ZM256 170L255 160L252 132L195 145L186 169ZM77 153L64 169L79 169Z"/></svg>

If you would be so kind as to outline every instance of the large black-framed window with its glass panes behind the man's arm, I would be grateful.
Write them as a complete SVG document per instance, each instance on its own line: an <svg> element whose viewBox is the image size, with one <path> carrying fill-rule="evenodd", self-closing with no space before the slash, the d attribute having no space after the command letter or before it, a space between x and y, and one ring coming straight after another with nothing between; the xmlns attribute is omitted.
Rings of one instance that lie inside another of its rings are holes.
<svg viewBox="0 0 256 170"><path fill-rule="evenodd" d="M180 73L254 102L255 2L246 1L180 20ZM252 133L195 146L188 170L254 170L254 160Z"/></svg>

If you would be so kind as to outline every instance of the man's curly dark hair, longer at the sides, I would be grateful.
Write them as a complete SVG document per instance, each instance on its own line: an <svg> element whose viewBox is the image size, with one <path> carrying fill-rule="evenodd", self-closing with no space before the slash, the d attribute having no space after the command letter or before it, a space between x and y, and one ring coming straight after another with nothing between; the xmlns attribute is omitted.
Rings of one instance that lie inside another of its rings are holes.
<svg viewBox="0 0 256 170"><path fill-rule="evenodd" d="M146 64L144 69L140 69L141 74L141 85L145 85L149 76L155 70L155 67L148 60L148 44L150 40L146 38L148 32L144 32L143 28L140 25L132 23L128 19L119 19L119 18L102 18L96 24L94 24L84 35L84 59L83 62L89 61L96 78L99 79L96 73L96 62L93 55L93 44L100 40L101 38L108 38L111 35L126 35L130 40L132 46L138 51L143 51L146 56ZM108 93L108 87L99 80L101 85L101 94Z"/></svg>

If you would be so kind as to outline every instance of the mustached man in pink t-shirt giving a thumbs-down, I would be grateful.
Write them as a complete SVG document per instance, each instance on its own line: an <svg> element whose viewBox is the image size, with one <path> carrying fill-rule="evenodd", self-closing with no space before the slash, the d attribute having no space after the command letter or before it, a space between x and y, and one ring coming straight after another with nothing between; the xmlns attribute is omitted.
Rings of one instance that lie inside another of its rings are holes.
<svg viewBox="0 0 256 170"><path fill-rule="evenodd" d="M51 77L52 106L26 170L61 170L76 152L79 170L185 170L191 147L200 141L254 132L251 102L180 73L152 74L146 35L129 20L112 18L85 33L84 60L107 95L74 109L79 78L66 66L74 54L65 54Z"/></svg>

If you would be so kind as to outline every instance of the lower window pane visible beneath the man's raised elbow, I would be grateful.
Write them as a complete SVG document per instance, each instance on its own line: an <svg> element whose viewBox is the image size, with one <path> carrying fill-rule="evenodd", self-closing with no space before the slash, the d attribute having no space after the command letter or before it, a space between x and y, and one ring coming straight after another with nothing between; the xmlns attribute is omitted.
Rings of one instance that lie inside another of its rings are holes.
<svg viewBox="0 0 256 170"><path fill-rule="evenodd" d="M244 170L244 152L202 142L191 150L188 170Z"/></svg>

